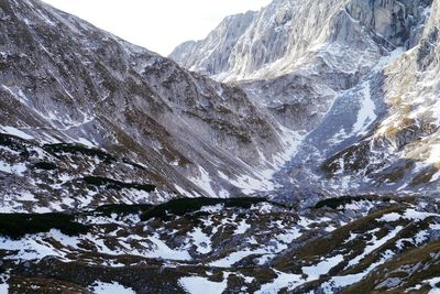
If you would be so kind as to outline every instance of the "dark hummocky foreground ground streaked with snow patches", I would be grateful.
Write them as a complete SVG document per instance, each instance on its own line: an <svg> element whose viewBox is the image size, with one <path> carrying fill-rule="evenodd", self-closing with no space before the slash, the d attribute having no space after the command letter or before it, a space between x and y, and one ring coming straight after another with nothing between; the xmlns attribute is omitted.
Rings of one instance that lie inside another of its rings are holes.
<svg viewBox="0 0 440 294"><path fill-rule="evenodd" d="M301 213L193 198L0 215L2 279L11 293L427 293L439 282L438 209L369 195Z"/></svg>

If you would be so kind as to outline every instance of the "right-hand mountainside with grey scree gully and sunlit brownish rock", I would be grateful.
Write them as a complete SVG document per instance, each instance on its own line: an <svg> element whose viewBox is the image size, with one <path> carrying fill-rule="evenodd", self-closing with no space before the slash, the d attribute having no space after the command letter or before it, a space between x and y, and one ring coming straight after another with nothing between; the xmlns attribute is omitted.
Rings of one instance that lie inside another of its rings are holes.
<svg viewBox="0 0 440 294"><path fill-rule="evenodd" d="M327 178L321 188L437 195L438 8L435 1L411 50L395 52L386 63L381 62L382 69L339 96L322 123L307 137L307 146L296 161L302 162L300 157L312 152L315 160L308 165Z"/></svg>

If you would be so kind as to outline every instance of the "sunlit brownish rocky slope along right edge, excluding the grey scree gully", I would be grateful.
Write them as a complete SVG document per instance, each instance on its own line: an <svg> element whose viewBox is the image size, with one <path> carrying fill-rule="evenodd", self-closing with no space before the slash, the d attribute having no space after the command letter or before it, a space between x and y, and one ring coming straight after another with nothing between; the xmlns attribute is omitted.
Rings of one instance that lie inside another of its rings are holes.
<svg viewBox="0 0 440 294"><path fill-rule="evenodd" d="M353 175L358 177L354 182L371 181L374 186L389 190L437 194L438 8L435 1L420 42L389 63L381 77L369 81L373 97L381 98L386 112L365 138L326 162L324 168L330 168L331 174ZM372 87L374 80L381 81L381 94Z"/></svg>

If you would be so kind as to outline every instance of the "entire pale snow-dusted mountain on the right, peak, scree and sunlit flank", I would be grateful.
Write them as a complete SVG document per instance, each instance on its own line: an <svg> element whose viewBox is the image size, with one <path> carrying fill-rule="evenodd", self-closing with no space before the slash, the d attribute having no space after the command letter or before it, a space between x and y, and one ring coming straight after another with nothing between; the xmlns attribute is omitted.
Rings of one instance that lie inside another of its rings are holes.
<svg viewBox="0 0 440 294"><path fill-rule="evenodd" d="M240 37L226 29L243 17L227 18L206 40L190 50L178 46L170 57L190 70L238 81L278 122L307 132L278 174L283 197L292 198L293 189L300 200L310 190L311 198L432 194L440 175L437 6L273 1L240 28ZM224 51L221 40L229 35L232 45Z"/></svg>

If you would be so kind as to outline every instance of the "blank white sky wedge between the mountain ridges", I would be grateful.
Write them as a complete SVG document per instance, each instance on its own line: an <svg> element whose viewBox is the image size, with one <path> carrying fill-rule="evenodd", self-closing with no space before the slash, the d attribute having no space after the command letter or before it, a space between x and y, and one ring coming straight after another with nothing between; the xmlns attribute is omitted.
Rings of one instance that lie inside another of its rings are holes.
<svg viewBox="0 0 440 294"><path fill-rule="evenodd" d="M162 55L201 40L228 15L258 10L271 0L43 0Z"/></svg>

